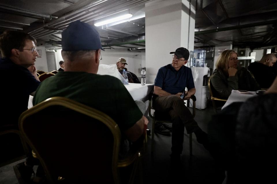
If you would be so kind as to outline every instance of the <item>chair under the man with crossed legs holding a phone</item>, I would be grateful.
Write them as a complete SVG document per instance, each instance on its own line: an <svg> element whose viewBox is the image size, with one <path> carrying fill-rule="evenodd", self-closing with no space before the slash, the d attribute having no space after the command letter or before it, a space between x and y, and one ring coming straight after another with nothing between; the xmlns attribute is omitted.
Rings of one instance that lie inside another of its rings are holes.
<svg viewBox="0 0 277 184"><path fill-rule="evenodd" d="M150 118L152 118L152 137L151 137L151 155L153 155L154 152L154 130L155 130L155 124L157 122L161 122L161 123L172 123L171 121L171 117L169 116L169 114L165 114L165 113L160 113L160 112L154 112L154 114L151 114L151 109L155 110L153 108L153 101L152 101L152 97L153 97L153 93L149 94L149 108L148 108L148 113ZM194 95L191 96L192 99L192 118L195 117L195 101L196 101L196 97ZM189 142L190 142L190 157L192 156L192 134L189 134Z"/></svg>

